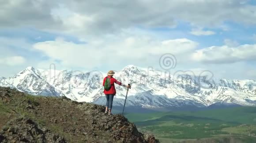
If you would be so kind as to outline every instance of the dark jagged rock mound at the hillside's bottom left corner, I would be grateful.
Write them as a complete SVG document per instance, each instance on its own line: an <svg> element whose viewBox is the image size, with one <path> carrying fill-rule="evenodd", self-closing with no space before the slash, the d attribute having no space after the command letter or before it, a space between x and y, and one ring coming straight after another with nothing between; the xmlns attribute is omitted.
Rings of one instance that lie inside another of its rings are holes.
<svg viewBox="0 0 256 143"><path fill-rule="evenodd" d="M67 143L64 137L51 132L29 118L16 118L0 132L1 143Z"/></svg>

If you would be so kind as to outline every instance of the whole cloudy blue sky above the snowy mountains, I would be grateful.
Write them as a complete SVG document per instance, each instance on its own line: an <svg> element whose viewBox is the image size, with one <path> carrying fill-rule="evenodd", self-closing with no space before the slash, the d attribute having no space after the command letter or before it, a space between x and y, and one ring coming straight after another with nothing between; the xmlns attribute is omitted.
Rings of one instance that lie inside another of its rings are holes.
<svg viewBox="0 0 256 143"><path fill-rule="evenodd" d="M172 54L171 72L256 79L256 2L0 0L0 50L5 77L51 64L102 72L128 64L161 69L161 56Z"/></svg>

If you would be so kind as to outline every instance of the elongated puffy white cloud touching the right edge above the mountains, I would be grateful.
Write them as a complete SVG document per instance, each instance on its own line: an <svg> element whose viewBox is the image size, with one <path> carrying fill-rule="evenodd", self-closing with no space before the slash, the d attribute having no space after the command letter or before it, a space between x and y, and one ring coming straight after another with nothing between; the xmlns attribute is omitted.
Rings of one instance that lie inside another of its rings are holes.
<svg viewBox="0 0 256 143"><path fill-rule="evenodd" d="M238 61L256 60L256 44L229 46L211 46L197 50L192 54L195 61L203 63L226 64Z"/></svg>

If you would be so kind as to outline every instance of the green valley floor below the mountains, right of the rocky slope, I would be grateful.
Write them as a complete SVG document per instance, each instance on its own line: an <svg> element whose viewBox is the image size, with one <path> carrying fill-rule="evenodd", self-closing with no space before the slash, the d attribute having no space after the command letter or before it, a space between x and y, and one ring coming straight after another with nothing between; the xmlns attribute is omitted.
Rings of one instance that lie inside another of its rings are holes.
<svg viewBox="0 0 256 143"><path fill-rule="evenodd" d="M255 143L256 107L232 107L206 111L173 111L147 114L129 113L139 131L153 133L162 143L207 142Z"/></svg>

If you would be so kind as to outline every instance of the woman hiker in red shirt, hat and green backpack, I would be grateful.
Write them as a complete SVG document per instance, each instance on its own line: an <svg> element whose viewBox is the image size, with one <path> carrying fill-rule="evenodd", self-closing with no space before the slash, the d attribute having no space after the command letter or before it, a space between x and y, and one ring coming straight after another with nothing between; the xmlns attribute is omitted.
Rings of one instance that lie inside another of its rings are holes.
<svg viewBox="0 0 256 143"><path fill-rule="evenodd" d="M113 78L113 75L114 75L114 74L115 74L114 71L109 71L109 72L108 72L108 76L103 79L103 86L105 86L105 81L106 81L106 79L108 79L107 81L109 81L109 82L110 82L110 85L111 85L108 90L106 90L106 89L104 88L104 94L105 94L105 97L106 97L106 99L107 99L107 101L106 101L106 110L105 110L105 113L107 113L107 111L109 110L109 115L111 114L111 109L112 109L112 104L113 104L113 98L114 98L114 96L115 96L116 93L117 93L114 83L116 83L116 84L118 84L118 85L120 85L120 86L124 86L124 87L127 87L127 88L131 88L130 85L128 85L128 86L127 86L127 85L124 85L124 84L122 84L121 82L118 82L117 79Z"/></svg>

